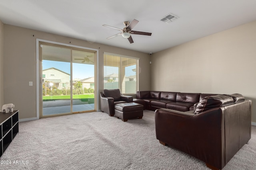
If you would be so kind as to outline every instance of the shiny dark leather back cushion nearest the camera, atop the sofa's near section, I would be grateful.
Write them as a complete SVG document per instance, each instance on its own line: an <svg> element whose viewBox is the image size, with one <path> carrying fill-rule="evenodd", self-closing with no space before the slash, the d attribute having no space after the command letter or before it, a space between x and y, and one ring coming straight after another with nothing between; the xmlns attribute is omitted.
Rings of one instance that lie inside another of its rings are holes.
<svg viewBox="0 0 256 170"><path fill-rule="evenodd" d="M225 104L233 103L234 100L231 96L225 94L218 94L215 96L207 96L200 100L195 109L195 114L201 113L208 109L219 107Z"/></svg>

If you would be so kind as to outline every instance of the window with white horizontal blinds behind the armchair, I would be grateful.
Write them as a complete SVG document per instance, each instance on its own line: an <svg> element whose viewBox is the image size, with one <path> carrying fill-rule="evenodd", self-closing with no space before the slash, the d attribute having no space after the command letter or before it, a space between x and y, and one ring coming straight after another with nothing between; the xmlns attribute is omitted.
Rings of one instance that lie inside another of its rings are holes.
<svg viewBox="0 0 256 170"><path fill-rule="evenodd" d="M104 89L119 88L122 94L136 94L138 66L138 58L104 53Z"/></svg>

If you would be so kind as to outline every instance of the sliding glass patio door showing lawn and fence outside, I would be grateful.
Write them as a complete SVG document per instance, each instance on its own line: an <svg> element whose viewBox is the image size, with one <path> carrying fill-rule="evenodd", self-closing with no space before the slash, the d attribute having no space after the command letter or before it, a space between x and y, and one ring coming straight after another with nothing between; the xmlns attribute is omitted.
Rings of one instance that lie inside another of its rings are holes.
<svg viewBox="0 0 256 170"><path fill-rule="evenodd" d="M40 43L40 117L95 111L95 51Z"/></svg>

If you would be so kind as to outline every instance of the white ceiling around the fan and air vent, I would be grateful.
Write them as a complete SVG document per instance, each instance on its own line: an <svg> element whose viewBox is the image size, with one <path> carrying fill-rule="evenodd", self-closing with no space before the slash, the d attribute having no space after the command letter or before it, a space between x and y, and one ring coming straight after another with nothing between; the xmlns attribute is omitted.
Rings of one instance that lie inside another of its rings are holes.
<svg viewBox="0 0 256 170"><path fill-rule="evenodd" d="M179 18L160 21L172 13ZM106 39L124 28L124 21L140 21L132 35ZM256 0L0 0L0 20L36 29L145 53L211 35L256 20Z"/></svg>

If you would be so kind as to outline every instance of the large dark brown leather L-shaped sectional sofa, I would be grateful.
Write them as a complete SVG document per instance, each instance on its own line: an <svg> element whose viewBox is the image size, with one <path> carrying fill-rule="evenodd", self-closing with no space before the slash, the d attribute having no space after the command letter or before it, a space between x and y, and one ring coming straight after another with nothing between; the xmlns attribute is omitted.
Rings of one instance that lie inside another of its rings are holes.
<svg viewBox="0 0 256 170"><path fill-rule="evenodd" d="M176 95L175 95L176 94ZM155 110L156 138L222 169L251 138L251 100L240 94L137 92Z"/></svg>

